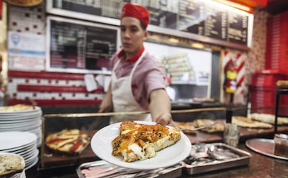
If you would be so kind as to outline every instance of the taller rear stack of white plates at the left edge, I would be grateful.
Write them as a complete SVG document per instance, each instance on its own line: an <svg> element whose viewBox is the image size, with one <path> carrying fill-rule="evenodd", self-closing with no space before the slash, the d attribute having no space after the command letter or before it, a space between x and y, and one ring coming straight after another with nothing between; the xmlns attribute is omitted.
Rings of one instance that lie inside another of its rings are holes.
<svg viewBox="0 0 288 178"><path fill-rule="evenodd" d="M42 110L35 106L33 110L0 112L0 132L30 131L37 136L37 146L41 145Z"/></svg>

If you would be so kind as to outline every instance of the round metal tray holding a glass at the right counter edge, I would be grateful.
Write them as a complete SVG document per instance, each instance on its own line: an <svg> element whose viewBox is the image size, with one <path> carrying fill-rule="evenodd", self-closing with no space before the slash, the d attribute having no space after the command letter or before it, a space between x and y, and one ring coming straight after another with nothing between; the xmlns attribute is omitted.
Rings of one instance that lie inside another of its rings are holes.
<svg viewBox="0 0 288 178"><path fill-rule="evenodd" d="M287 157L273 154L274 140L272 139L252 138L250 140L246 140L246 146L259 154L271 156L276 159L288 160Z"/></svg>

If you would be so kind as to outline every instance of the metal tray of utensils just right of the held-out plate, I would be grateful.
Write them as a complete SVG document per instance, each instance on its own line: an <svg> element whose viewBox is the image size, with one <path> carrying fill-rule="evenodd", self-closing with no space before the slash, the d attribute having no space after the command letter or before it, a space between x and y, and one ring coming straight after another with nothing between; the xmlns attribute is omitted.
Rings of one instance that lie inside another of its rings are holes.
<svg viewBox="0 0 288 178"><path fill-rule="evenodd" d="M184 172L195 175L248 165L250 153L225 143L200 143L192 145L191 154L183 162Z"/></svg>

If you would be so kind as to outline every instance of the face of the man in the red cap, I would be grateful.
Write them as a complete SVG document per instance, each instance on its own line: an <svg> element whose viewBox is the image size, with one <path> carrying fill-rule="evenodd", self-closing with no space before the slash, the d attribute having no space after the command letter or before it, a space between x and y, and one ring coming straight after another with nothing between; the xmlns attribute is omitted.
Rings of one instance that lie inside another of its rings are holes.
<svg viewBox="0 0 288 178"><path fill-rule="evenodd" d="M134 17L123 17L120 24L122 49L128 57L134 56L143 46L147 31L141 28L140 21Z"/></svg>

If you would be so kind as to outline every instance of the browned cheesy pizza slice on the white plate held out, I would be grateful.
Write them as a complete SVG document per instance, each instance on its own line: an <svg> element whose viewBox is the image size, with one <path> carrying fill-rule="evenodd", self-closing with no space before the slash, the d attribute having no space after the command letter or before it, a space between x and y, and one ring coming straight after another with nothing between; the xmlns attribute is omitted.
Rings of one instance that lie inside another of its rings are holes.
<svg viewBox="0 0 288 178"><path fill-rule="evenodd" d="M112 155L123 156L125 162L149 159L180 138L179 129L124 121L120 124L120 134L111 142Z"/></svg>

